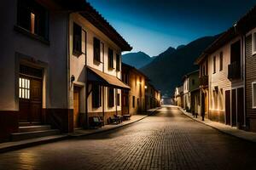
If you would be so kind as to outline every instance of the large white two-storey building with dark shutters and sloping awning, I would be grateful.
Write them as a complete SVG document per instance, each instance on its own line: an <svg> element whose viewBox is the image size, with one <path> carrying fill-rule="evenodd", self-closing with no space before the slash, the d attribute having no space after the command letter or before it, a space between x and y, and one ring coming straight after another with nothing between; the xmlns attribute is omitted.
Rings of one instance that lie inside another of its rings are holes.
<svg viewBox="0 0 256 170"><path fill-rule="evenodd" d="M1 27L0 141L32 125L68 133L90 116L108 122L120 113L120 89L129 89L120 54L131 46L89 3L12 0L0 9L9 16Z"/></svg>

